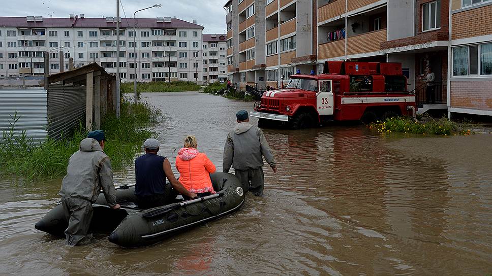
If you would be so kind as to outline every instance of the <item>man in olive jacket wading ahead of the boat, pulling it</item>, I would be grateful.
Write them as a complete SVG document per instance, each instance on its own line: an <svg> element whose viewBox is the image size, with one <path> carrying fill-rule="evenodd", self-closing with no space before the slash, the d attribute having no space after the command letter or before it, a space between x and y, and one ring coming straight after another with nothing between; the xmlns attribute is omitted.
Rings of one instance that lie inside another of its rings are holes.
<svg viewBox="0 0 492 276"><path fill-rule="evenodd" d="M273 172L276 172L273 154L263 131L249 124L247 111L238 111L236 119L238 124L227 135L222 168L224 172L229 172L232 165L244 192L250 190L255 195L262 196L265 185L263 156Z"/></svg>

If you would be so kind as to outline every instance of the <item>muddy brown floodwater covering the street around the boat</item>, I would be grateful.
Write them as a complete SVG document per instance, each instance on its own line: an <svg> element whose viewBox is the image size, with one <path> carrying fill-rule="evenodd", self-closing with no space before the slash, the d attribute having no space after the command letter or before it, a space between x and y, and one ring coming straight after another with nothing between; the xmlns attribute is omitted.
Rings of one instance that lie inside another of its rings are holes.
<svg viewBox="0 0 492 276"><path fill-rule="evenodd" d="M195 92L143 97L163 111L162 155L174 163L195 134L219 170L236 111L253 105ZM279 164L277 174L265 167L264 197L146 248L106 237L67 247L34 229L60 180L0 181L0 274L492 273L492 135L382 137L360 125L264 132ZM115 178L132 183L133 169Z"/></svg>

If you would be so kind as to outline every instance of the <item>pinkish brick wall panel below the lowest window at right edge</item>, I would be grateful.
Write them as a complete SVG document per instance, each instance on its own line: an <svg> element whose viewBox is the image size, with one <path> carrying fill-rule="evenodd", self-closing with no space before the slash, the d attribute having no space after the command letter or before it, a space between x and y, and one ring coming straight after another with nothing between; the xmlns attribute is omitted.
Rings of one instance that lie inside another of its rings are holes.
<svg viewBox="0 0 492 276"><path fill-rule="evenodd" d="M492 81L451 81L451 107L492 111Z"/></svg>

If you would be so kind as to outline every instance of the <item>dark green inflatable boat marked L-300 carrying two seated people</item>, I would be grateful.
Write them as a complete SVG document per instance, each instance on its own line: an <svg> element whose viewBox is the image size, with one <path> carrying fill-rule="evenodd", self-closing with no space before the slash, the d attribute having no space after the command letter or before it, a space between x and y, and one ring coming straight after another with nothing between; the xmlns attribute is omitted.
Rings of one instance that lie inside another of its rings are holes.
<svg viewBox="0 0 492 276"><path fill-rule="evenodd" d="M229 215L240 209L245 192L239 180L232 174L215 172L210 175L216 194L179 201L166 185L169 204L142 210L136 201L135 188L122 186L116 197L122 209L112 210L101 193L94 206L91 233L110 233L109 241L121 247L149 246L185 229ZM58 204L43 219L36 223L38 230L65 237L68 222L63 206Z"/></svg>

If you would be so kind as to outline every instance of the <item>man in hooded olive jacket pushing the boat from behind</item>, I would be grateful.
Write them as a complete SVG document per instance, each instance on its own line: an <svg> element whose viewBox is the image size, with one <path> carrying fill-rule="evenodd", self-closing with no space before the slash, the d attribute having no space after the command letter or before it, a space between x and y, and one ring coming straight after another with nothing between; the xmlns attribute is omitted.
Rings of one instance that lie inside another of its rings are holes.
<svg viewBox="0 0 492 276"><path fill-rule="evenodd" d="M89 230L93 217L92 203L98 199L101 188L108 205L118 209L113 185L113 171L109 157L103 152L104 132L89 132L80 142L79 150L68 162L67 175L61 181L61 204L68 221L65 230L67 244L77 245Z"/></svg>

